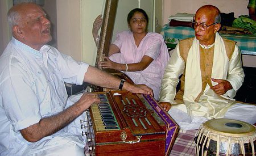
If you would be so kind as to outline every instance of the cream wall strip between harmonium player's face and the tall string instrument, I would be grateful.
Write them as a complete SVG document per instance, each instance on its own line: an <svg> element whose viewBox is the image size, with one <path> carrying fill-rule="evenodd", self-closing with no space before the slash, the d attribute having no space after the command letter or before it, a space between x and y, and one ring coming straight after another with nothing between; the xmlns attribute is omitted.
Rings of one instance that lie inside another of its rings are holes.
<svg viewBox="0 0 256 156"><path fill-rule="evenodd" d="M80 0L56 0L57 48L81 61Z"/></svg>

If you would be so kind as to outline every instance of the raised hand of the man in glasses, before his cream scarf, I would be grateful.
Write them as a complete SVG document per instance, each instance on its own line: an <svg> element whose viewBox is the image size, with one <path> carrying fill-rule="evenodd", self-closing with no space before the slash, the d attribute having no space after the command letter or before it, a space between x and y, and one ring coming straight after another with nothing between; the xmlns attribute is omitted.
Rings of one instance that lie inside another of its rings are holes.
<svg viewBox="0 0 256 156"><path fill-rule="evenodd" d="M210 87L218 95L223 95L228 90L231 90L233 88L232 85L230 84L230 82L226 81L225 79L212 78L212 81L218 83L217 85Z"/></svg>

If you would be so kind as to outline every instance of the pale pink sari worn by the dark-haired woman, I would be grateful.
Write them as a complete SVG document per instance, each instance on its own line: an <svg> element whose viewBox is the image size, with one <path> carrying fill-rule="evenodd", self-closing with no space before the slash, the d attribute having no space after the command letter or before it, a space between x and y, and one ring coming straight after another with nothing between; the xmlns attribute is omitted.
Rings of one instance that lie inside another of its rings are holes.
<svg viewBox="0 0 256 156"><path fill-rule="evenodd" d="M135 84L145 84L151 87L154 91L154 98L158 100L164 69L170 58L163 36L159 33L148 32L137 47L133 32L123 31L117 33L117 38L113 44L120 49L120 53L109 57L114 62L133 64L140 62L144 55L154 59L142 71L123 71L123 73L127 74Z"/></svg>

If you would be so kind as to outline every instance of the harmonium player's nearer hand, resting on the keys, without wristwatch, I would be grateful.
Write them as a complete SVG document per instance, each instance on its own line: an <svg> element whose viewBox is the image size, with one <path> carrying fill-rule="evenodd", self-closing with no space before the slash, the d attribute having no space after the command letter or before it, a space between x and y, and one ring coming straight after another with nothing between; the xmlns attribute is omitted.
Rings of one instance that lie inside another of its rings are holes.
<svg viewBox="0 0 256 156"><path fill-rule="evenodd" d="M88 109L94 102L100 103L101 100L98 98L97 94L92 94L90 92L85 92L81 98L76 102L80 106L82 111Z"/></svg>

